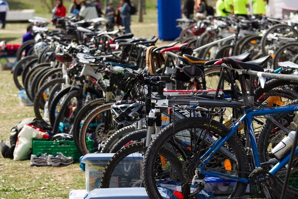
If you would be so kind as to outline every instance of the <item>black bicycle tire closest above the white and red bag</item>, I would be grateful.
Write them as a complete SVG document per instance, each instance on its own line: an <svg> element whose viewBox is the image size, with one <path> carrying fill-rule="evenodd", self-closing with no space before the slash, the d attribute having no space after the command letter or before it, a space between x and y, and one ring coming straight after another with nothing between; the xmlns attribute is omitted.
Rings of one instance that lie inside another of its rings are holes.
<svg viewBox="0 0 298 199"><path fill-rule="evenodd" d="M35 113L35 116L37 119L45 121L43 119L43 115L41 115L40 110L39 110L39 108L41 108L41 109L44 108L44 104L45 104L44 97L43 97L44 91L52 86L57 85L57 84L62 84L64 81L65 80L63 78L52 80L51 82L48 82L47 84L43 85L40 88L40 90L36 93L35 98L34 98L34 113Z"/></svg>

